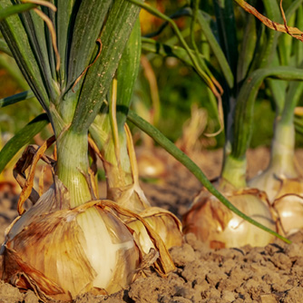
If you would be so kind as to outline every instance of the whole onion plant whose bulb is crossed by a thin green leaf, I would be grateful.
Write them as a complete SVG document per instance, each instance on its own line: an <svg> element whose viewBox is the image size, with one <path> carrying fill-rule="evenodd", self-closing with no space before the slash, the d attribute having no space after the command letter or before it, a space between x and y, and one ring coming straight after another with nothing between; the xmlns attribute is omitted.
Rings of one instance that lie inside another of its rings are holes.
<svg viewBox="0 0 303 303"><path fill-rule="evenodd" d="M248 15L248 22L243 34L243 41L240 54L233 45L237 45L236 25L233 16L233 5L231 1L224 2L224 8L214 1L217 14L217 27L220 28L220 46L216 43L210 26L207 24L205 15L199 11L199 1L192 1L190 7L183 8L185 15L191 15L191 29L199 22L202 33L206 36L210 44L212 53L217 57L220 64L220 72L223 77L222 83L217 83L217 87L224 88L223 108L225 118L226 146L224 155L224 165L222 168L220 181L217 182L218 189L230 200L233 200L237 207L256 220L262 221L270 228L275 228L275 221L271 215L267 197L259 191L247 189L246 184L246 158L245 152L249 144L251 112L253 100L256 98L259 85L265 77L279 77L281 71L269 70L271 56L276 49L276 39L278 35L269 29L259 32L258 24L253 16ZM266 1L265 8L269 17L279 15L279 6ZM296 3L298 7L298 3ZM144 7L145 8L145 7ZM146 7L152 14L163 17L159 12ZM292 5L291 10L294 9ZM170 22L167 18L163 19ZM191 59L181 56L179 46L171 44L155 43L152 40L144 40L146 49L162 55L173 55L181 57L182 61L195 68ZM181 41L182 43L182 41ZM191 30L191 46L197 52L197 45L193 39ZM239 57L238 63L237 58ZM206 57L203 58L207 59ZM199 74L199 71L195 69ZM286 68L286 71L288 69ZM210 70L207 70L210 71ZM298 70L288 70L286 78L300 79ZM295 75L297 73L297 75ZM212 79L211 74L210 78ZM283 76L282 76L283 77ZM252 84L251 79L257 88ZM204 81L205 79L202 78ZM217 96L218 98L218 96ZM247 101L249 98L249 102ZM220 98L218 99L220 101ZM245 108L245 105L249 106ZM234 109L236 108L236 113ZM248 117L245 121L241 117ZM243 127L244 125L244 127ZM247 126L246 126L247 125ZM245 137L246 141L243 140ZM240 151L240 152L239 152ZM260 200L262 198L262 200ZM207 241L211 247L239 246L245 244L265 245L273 238L265 236L247 225L239 217L231 214L229 210L220 206L218 200L207 191L202 191L187 215L184 217L185 232L195 232L199 239ZM249 236L248 236L249 235Z"/></svg>

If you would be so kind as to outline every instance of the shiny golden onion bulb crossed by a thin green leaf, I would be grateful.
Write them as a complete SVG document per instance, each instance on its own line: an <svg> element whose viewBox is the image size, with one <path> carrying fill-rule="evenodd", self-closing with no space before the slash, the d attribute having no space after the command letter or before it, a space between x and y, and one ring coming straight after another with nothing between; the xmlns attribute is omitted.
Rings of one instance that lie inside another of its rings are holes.
<svg viewBox="0 0 303 303"><path fill-rule="evenodd" d="M229 189L225 187L221 192L247 216L271 230L276 230L264 192L235 190L231 186ZM197 239L207 243L211 249L241 247L247 244L265 246L274 239L268 232L259 230L234 214L205 189L200 191L191 209L183 216L182 224L184 233L194 233Z"/></svg>

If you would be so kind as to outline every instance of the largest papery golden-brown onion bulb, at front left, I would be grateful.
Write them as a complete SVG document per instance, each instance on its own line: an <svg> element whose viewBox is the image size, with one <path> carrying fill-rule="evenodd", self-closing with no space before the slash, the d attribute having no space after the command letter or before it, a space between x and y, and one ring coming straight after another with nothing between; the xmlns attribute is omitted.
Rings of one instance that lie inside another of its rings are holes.
<svg viewBox="0 0 303 303"><path fill-rule="evenodd" d="M64 191L57 180L56 189L46 191L7 230L5 281L32 288L42 299L67 301L90 290L111 294L127 287L140 263L132 231L100 204L67 209Z"/></svg>

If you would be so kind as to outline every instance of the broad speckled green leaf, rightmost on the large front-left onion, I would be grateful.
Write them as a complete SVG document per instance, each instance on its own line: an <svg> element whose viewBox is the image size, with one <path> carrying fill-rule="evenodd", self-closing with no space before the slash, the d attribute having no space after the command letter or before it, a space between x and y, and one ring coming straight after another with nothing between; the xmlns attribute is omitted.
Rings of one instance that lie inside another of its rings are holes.
<svg viewBox="0 0 303 303"><path fill-rule="evenodd" d="M103 50L83 82L71 125L74 132L88 130L99 112L139 12L140 8L127 0L113 3L101 35Z"/></svg>

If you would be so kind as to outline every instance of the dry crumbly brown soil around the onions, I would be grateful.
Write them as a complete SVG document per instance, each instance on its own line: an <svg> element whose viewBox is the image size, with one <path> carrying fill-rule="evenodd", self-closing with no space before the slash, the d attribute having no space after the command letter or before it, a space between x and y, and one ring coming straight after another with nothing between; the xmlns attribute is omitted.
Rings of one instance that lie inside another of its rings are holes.
<svg viewBox="0 0 303 303"><path fill-rule="evenodd" d="M220 174L221 151L203 152L193 156L206 175L212 179ZM264 169L269 150L249 151L248 175ZM303 151L297 152L298 161ZM171 210L179 218L200 190L200 182L180 164L168 160L169 171L158 182L142 182L145 194L153 205ZM9 187L0 191L0 239L6 226L16 216L17 197ZM303 298L303 232L266 247L245 246L232 249L208 249L193 234L184 237L181 247L171 249L176 270L167 278L150 272L147 278L135 280L112 296L84 294L74 303L298 303ZM0 281L0 303L37 303L34 292L25 293Z"/></svg>

